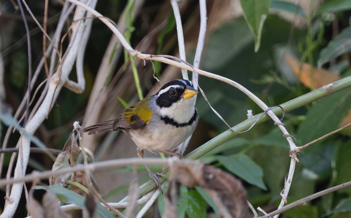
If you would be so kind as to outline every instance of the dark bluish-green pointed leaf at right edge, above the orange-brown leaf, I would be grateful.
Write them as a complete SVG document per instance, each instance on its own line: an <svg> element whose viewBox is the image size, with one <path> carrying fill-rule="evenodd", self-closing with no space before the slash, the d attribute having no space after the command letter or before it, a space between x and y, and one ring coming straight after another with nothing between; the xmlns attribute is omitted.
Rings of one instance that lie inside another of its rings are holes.
<svg viewBox="0 0 351 218"><path fill-rule="evenodd" d="M349 1L351 4L351 1ZM332 39L328 45L319 53L317 61L318 68L323 64L336 59L338 56L351 51L351 27L343 29L335 39Z"/></svg>

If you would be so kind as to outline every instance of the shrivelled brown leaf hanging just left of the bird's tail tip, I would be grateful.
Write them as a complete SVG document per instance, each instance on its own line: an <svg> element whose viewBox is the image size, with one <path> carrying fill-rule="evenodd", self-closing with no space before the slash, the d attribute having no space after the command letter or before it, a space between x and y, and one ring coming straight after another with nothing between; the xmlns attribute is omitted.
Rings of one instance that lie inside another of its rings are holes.
<svg viewBox="0 0 351 218"><path fill-rule="evenodd" d="M52 166L52 171L77 164L80 152L81 150L79 149L76 132L73 130L69 135L62 152L57 156L55 163ZM70 176L71 173L51 176L49 178L50 185L61 184L63 186Z"/></svg>

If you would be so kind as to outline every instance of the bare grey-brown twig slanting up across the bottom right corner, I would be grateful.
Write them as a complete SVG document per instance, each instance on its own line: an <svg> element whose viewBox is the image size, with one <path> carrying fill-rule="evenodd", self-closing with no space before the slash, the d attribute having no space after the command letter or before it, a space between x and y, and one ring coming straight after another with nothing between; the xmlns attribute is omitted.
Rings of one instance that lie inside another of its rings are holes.
<svg viewBox="0 0 351 218"><path fill-rule="evenodd" d="M340 189L343 189L343 188L346 188L346 187L349 187L349 186L351 186L351 181L343 183L343 184L340 184L340 185L337 185L337 186L334 186L334 187L329 188L329 189L325 189L325 190L317 192L317 193L314 193L313 195L310 195L310 196L307 196L307 197L302 198L300 200L297 200L296 202L293 202L291 204L285 205L284 207L282 207L282 208L280 208L278 210L275 210L273 212L270 212L270 213L266 214L265 216L260 216L260 217L257 217L257 218L267 218L269 216L274 216L276 214L283 213L284 211L290 210L293 207L306 205L306 202L309 202L310 200L313 200L313 199L318 198L320 196L329 194L331 192L334 192L334 191L337 191L337 190L340 190Z"/></svg>

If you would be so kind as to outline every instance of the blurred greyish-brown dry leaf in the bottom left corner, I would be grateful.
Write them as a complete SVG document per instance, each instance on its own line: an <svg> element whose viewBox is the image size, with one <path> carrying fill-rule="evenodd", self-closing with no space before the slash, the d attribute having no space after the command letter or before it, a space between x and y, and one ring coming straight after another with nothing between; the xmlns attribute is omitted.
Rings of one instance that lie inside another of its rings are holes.
<svg viewBox="0 0 351 218"><path fill-rule="evenodd" d="M49 189L46 190L39 203L34 197L34 189L29 191L28 211L32 218L71 218L69 214L60 209L59 199Z"/></svg>

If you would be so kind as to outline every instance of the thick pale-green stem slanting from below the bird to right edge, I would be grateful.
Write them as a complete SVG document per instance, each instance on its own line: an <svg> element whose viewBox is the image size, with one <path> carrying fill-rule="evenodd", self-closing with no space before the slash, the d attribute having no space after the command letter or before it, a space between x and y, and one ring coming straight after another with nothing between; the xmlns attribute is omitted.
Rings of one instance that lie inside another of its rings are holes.
<svg viewBox="0 0 351 218"><path fill-rule="evenodd" d="M284 108L285 113L289 112L291 110L294 110L296 108L299 108L305 104L311 103L313 101L316 101L324 96L330 95L332 93L336 93L337 91L343 90L345 88L351 87L351 76L347 76L341 80L338 80L336 82L332 83L332 86L329 88L319 88L316 90L311 91L310 93L307 93L305 95L299 96L297 98L294 98L293 100L290 100L288 102L285 102L283 104L280 104ZM272 109L273 113L276 115L281 115L282 110L278 107L275 107ZM245 131L248 129L259 117L262 116L263 113L257 114L253 116L253 118L247 119L233 127L235 131ZM264 114L257 122L263 123L267 120L270 120L270 117L267 114ZM220 135L216 136L215 138L211 139L210 141L206 142L205 144L201 145L199 148L193 150L190 152L188 155L185 156L187 159L199 159L200 157L204 156L214 148L217 148L219 145L222 143L228 141L229 139L233 138L234 136L237 136L237 132L233 132L232 130L227 130ZM163 171L164 175L166 178L170 176L169 170ZM165 179L160 178L160 182L163 182ZM145 185L143 185L143 188L139 190L139 197L145 195L146 193L150 192L151 190L155 189L155 183L153 180L148 181Z"/></svg>

